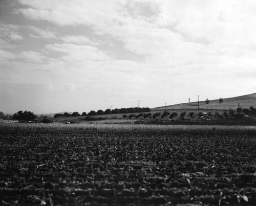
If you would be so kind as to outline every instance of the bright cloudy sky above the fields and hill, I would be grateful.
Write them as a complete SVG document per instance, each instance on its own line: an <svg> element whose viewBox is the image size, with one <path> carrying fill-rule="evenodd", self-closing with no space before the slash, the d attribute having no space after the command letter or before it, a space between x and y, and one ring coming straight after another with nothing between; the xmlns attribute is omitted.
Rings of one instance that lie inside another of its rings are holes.
<svg viewBox="0 0 256 206"><path fill-rule="evenodd" d="M255 93L255 11L253 0L1 0L0 111Z"/></svg>

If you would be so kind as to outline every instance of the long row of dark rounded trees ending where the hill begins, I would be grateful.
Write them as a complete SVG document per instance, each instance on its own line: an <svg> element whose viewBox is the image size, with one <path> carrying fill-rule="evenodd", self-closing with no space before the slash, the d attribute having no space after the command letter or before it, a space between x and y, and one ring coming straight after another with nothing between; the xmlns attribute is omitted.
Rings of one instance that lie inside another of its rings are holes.
<svg viewBox="0 0 256 206"><path fill-rule="evenodd" d="M65 113L56 113L54 115L54 118L58 117L80 117L80 116L96 116L96 115L115 115L118 113L137 113L137 112L150 112L151 109L148 107L129 107L129 108L116 108L116 109L106 109L103 111L102 109L99 109L98 111L91 110L89 113L86 113L85 111L82 112L80 115L79 112L75 111L72 114L65 112Z"/></svg>

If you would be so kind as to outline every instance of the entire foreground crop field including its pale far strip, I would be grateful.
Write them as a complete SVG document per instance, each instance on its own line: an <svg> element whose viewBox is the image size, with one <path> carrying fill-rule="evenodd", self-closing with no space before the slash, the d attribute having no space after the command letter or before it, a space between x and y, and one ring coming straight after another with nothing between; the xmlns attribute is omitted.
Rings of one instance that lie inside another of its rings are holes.
<svg viewBox="0 0 256 206"><path fill-rule="evenodd" d="M255 134L255 126L3 123L0 205L255 205Z"/></svg>

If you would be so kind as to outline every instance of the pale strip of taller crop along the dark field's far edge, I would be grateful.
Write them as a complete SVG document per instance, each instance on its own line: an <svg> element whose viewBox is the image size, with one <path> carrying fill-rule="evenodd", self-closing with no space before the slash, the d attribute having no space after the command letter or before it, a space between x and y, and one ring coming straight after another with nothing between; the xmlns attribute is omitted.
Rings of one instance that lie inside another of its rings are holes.
<svg viewBox="0 0 256 206"><path fill-rule="evenodd" d="M219 134L219 135L255 135L256 126L223 125L130 125L130 124L0 124L1 133L131 133L131 134Z"/></svg>

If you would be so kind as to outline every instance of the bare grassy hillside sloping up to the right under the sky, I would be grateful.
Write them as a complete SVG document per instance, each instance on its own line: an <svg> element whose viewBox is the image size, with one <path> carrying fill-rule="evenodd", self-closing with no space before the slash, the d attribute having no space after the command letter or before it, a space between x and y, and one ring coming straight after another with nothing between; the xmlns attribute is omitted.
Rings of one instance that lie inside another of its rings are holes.
<svg viewBox="0 0 256 206"><path fill-rule="evenodd" d="M249 108L250 106L256 107L256 93L250 95L243 95L239 97L231 97L231 98L223 98L223 102L220 103L219 99L210 100L209 104L205 103L205 100L199 101L200 109L237 109L238 103L240 103L240 107ZM198 102L190 102L190 103L181 103L166 106L167 109L197 109ZM152 108L152 110L164 110L165 106Z"/></svg>

